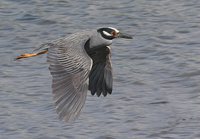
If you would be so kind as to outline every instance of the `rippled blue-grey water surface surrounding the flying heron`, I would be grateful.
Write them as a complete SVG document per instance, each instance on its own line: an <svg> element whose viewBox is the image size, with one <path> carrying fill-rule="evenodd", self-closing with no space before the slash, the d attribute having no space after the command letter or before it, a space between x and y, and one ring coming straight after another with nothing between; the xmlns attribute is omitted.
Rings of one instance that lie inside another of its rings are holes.
<svg viewBox="0 0 200 139"><path fill-rule="evenodd" d="M43 42L113 26L114 91L88 93L74 123L58 120ZM1 0L0 139L199 139L199 0Z"/></svg>

